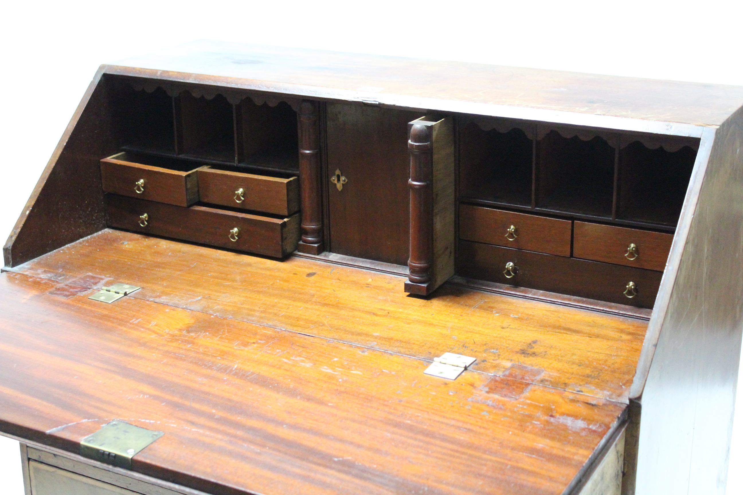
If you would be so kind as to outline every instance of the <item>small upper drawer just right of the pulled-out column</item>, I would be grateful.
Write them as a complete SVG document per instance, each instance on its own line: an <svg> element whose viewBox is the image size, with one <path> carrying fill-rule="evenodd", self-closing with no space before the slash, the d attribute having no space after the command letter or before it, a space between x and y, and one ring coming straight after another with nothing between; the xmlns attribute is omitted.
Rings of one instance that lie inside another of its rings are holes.
<svg viewBox="0 0 743 495"><path fill-rule="evenodd" d="M513 226L513 229L510 229ZM459 238L549 255L570 256L571 220L459 206Z"/></svg>

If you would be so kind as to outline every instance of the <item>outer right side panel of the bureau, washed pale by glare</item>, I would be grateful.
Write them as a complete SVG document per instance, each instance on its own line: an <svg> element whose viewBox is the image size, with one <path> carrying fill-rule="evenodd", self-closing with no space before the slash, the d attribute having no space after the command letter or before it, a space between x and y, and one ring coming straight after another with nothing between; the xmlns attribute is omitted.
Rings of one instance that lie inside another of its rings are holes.
<svg viewBox="0 0 743 495"><path fill-rule="evenodd" d="M654 315L657 345L652 322L644 344L655 354L640 389L638 495L725 492L743 328L742 148L739 110L714 134L666 310Z"/></svg>

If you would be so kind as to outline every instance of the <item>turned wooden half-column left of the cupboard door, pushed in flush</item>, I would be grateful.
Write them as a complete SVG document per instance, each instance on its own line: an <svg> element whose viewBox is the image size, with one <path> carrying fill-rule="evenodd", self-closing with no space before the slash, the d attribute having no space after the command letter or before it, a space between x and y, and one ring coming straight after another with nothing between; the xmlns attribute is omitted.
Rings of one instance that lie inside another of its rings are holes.
<svg viewBox="0 0 743 495"><path fill-rule="evenodd" d="M299 105L299 179L302 180L302 240L299 252L319 255L322 246L322 169L317 102L305 99Z"/></svg>

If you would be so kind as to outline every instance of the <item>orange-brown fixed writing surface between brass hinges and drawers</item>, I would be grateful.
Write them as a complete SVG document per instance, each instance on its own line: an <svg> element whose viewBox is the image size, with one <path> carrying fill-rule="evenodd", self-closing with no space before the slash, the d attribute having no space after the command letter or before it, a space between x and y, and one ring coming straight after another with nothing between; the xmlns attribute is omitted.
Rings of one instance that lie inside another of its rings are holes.
<svg viewBox="0 0 743 495"><path fill-rule="evenodd" d="M18 266L18 272L371 349L432 359L473 356L474 368L544 370L535 383L627 400L646 321L444 286L432 298L405 278L291 258L284 262L107 229Z"/></svg>

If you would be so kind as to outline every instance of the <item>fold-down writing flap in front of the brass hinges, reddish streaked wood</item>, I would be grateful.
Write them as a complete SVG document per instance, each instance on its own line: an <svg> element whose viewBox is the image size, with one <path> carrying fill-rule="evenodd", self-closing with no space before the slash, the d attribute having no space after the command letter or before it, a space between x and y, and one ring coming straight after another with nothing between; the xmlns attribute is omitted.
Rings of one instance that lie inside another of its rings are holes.
<svg viewBox="0 0 743 495"><path fill-rule="evenodd" d="M162 430L134 471L211 493L560 494L625 408L529 367L448 381L420 358L102 304L85 280L0 275L0 430L73 452L111 419Z"/></svg>

